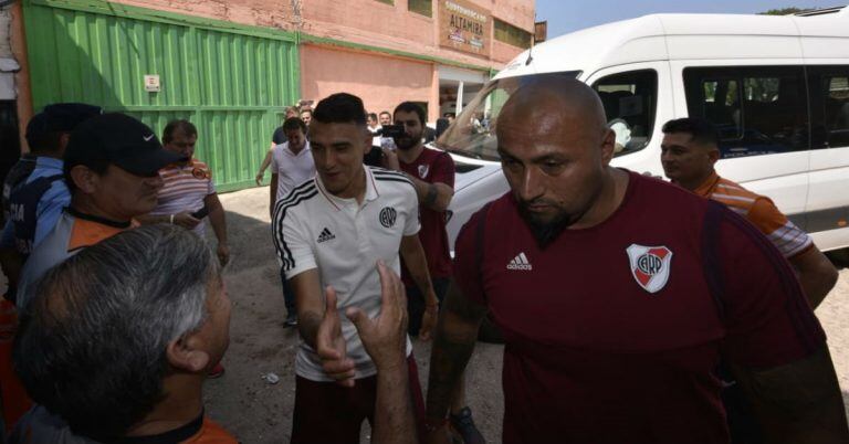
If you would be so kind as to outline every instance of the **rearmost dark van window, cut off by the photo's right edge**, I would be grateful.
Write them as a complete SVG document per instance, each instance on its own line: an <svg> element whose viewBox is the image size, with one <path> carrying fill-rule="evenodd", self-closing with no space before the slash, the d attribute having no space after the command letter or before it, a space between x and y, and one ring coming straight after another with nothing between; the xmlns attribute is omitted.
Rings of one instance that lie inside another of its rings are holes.
<svg viewBox="0 0 849 444"><path fill-rule="evenodd" d="M849 147L849 66L809 66L813 148Z"/></svg>

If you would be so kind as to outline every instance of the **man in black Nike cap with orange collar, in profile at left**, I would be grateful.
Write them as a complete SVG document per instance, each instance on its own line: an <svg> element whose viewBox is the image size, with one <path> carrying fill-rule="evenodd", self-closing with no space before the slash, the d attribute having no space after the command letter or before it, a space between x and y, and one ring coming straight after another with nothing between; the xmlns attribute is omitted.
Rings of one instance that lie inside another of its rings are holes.
<svg viewBox="0 0 849 444"><path fill-rule="evenodd" d="M163 149L147 125L113 113L86 120L71 135L64 157L71 205L32 252L21 272L18 308L32 297L33 283L80 249L134 225L156 207L159 169L184 157Z"/></svg>

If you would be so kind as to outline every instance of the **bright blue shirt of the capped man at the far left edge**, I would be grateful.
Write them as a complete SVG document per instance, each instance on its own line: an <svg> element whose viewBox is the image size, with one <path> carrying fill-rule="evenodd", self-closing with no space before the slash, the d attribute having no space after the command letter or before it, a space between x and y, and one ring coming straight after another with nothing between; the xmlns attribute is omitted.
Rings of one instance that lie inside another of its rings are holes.
<svg viewBox="0 0 849 444"><path fill-rule="evenodd" d="M35 160L35 169L27 179L25 183L31 183L43 177L62 175L62 159L41 156ZM59 221L59 216L62 215L62 210L70 204L71 191L69 191L65 181L54 181L50 189L42 194L36 207L35 236L32 243L33 247L38 246L48 233L53 230L53 226L55 226ZM11 247L14 245L14 226L11 221L7 221L6 226L3 228L0 245L3 247Z"/></svg>

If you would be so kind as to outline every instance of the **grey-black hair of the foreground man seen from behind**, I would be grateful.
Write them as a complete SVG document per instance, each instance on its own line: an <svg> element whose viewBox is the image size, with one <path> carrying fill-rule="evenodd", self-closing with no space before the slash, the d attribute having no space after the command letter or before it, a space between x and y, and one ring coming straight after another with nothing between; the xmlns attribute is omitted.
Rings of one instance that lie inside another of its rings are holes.
<svg viewBox="0 0 849 444"><path fill-rule="evenodd" d="M120 436L161 400L168 343L199 329L218 261L174 225L119 233L50 269L15 338L30 395L75 433Z"/></svg>

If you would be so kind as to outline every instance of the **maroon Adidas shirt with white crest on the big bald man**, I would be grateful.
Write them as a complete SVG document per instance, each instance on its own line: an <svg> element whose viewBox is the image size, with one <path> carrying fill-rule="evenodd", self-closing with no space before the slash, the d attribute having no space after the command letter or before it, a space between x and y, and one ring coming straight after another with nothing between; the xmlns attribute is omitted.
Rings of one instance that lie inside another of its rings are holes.
<svg viewBox="0 0 849 444"><path fill-rule="evenodd" d="M629 177L610 218L545 250L510 194L458 237L454 278L506 341L504 443L724 444L720 358L768 368L825 342L766 237L720 203Z"/></svg>

